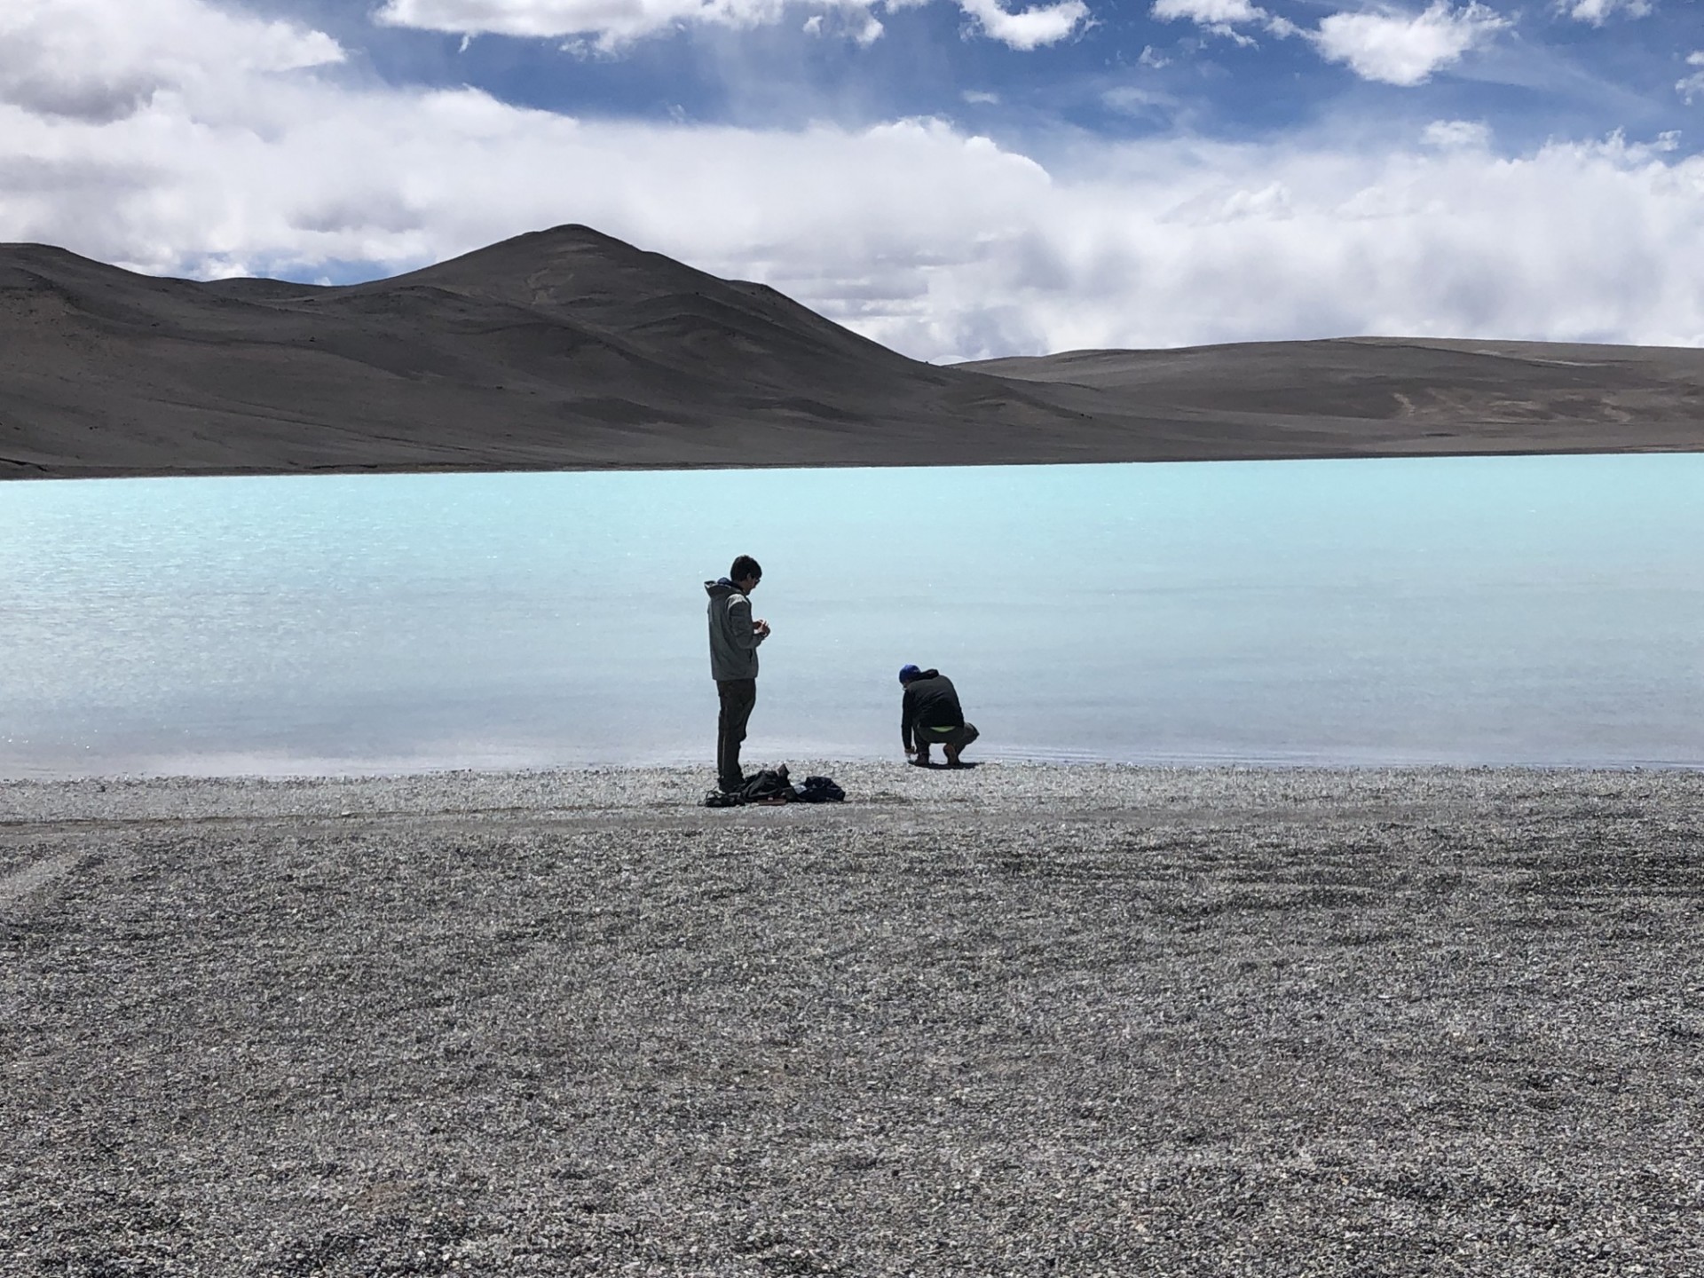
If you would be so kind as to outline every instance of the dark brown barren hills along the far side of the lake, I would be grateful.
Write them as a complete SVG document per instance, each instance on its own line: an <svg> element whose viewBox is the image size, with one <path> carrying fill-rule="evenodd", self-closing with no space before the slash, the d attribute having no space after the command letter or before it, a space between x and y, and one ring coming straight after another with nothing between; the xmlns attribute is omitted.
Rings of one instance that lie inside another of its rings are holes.
<svg viewBox="0 0 1704 1278"><path fill-rule="evenodd" d="M908 360L590 227L392 279L0 245L0 477L1704 448L1704 353L1348 339Z"/></svg>

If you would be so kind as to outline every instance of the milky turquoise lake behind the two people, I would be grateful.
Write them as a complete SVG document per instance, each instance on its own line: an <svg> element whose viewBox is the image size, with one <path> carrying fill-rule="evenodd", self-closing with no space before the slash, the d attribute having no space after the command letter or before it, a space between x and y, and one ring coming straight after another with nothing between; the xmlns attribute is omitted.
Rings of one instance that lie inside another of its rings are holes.
<svg viewBox="0 0 1704 1278"><path fill-rule="evenodd" d="M14 482L0 775L709 760L1704 765L1704 455Z"/></svg>

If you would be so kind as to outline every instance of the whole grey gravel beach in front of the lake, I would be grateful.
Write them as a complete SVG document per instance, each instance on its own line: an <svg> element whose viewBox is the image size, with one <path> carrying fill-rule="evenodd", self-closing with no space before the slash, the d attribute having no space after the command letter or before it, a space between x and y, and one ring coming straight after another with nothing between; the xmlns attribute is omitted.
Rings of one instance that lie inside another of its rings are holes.
<svg viewBox="0 0 1704 1278"><path fill-rule="evenodd" d="M1704 774L808 772L0 784L0 1273L1704 1273Z"/></svg>

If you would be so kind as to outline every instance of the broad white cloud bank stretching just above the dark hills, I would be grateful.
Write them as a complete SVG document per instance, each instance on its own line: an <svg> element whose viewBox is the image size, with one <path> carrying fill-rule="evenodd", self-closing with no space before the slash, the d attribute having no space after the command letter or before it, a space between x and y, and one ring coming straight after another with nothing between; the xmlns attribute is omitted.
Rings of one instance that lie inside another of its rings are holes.
<svg viewBox="0 0 1704 1278"><path fill-rule="evenodd" d="M264 24L220 31L266 48ZM160 78L165 53L133 53L119 61ZM1428 145L1157 136L1050 169L929 119L574 121L220 63L208 44L128 114L0 104L0 240L315 278L586 222L925 358L1356 332L1704 343L1704 295L1675 269L1704 257L1704 158L1663 141L1494 155L1440 147L1467 140L1445 121Z"/></svg>

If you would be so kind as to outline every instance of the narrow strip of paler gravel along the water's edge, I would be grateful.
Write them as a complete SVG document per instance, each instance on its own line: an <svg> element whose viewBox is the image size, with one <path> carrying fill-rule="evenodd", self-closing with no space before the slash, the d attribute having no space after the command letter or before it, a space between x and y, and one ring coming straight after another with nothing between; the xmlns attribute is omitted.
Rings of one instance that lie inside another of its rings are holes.
<svg viewBox="0 0 1704 1278"><path fill-rule="evenodd" d="M746 774L775 767L746 760ZM1351 808L1365 801L1430 796L1460 799L1513 786L1621 792L1649 780L1658 791L1694 782L1704 796L1704 765L1319 765L1319 763L1121 763L1096 760L968 760L953 770L901 760L804 758L787 762L794 782L813 774L847 789L838 811L942 806L993 816L1063 808L1193 808L1261 796L1307 808ZM702 806L714 784L709 765L469 769L435 767L375 774L102 774L0 777L0 826L56 821L293 820L324 816L479 816L513 813L550 818L573 813L634 816ZM711 818L714 820L714 818Z"/></svg>

